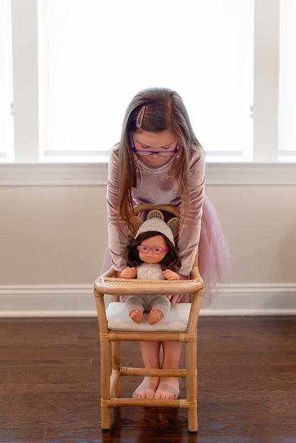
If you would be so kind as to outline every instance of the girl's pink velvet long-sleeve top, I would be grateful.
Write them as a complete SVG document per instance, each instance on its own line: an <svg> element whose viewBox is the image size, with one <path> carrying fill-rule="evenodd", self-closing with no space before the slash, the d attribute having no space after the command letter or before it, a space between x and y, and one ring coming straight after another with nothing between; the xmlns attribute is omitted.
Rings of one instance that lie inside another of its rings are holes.
<svg viewBox="0 0 296 443"><path fill-rule="evenodd" d="M178 154L177 154L178 155ZM174 174L174 157L163 166L152 167L143 163L134 154L137 170L137 187L132 188L134 204L174 205L182 212L181 194ZM125 251L127 247L127 223L118 218L118 189L119 189L119 146L112 149L109 161L107 181L107 221L109 245L112 257L112 267L122 271L127 267ZM181 268L179 274L188 276L194 263L199 236L201 232L201 215L203 208L203 193L205 181L205 159L203 149L194 146L189 156L189 213L186 226L178 242Z"/></svg>

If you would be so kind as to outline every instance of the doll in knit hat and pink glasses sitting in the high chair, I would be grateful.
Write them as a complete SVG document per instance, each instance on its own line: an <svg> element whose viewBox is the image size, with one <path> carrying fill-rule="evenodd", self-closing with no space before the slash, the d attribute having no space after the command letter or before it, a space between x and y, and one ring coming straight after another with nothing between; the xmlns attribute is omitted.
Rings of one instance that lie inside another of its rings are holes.
<svg viewBox="0 0 296 443"><path fill-rule="evenodd" d="M176 271L181 267L174 235L159 218L149 218L137 231L127 247L127 264L120 277L125 279L179 280ZM149 311L148 322L155 324L169 312L171 302L165 295L129 296L126 301L130 318L142 323L143 311Z"/></svg>

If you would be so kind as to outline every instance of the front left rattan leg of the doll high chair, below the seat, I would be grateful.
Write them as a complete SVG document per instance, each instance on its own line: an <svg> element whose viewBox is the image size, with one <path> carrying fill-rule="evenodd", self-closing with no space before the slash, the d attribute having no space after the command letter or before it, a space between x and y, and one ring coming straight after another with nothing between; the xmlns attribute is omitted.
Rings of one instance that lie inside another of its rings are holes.
<svg viewBox="0 0 296 443"><path fill-rule="evenodd" d="M102 429L110 429L110 342L101 341L101 418Z"/></svg>

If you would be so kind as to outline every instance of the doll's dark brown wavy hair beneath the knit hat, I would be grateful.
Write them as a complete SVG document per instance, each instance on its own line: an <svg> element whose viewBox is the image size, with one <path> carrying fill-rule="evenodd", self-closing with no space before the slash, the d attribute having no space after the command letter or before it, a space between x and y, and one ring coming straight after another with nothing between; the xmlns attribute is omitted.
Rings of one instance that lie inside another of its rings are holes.
<svg viewBox="0 0 296 443"><path fill-rule="evenodd" d="M171 269L171 271L178 272L179 268L181 267L181 260L176 246L169 241L166 235L157 231L146 231L139 234L137 238L129 242L129 245L127 246L127 265L132 267L141 265L142 260L139 258L139 251L137 250L137 246L141 245L143 240L155 237L155 235L162 235L169 249L169 251L166 252L163 260L159 262L162 270L165 271L166 269Z"/></svg>

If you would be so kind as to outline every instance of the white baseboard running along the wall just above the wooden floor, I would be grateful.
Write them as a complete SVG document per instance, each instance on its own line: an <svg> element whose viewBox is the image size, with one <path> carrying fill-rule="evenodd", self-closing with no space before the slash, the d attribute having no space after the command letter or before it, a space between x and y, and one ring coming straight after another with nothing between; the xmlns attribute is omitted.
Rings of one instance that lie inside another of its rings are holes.
<svg viewBox="0 0 296 443"><path fill-rule="evenodd" d="M201 315L296 315L296 283L221 284ZM0 286L1 317L96 316L93 286Z"/></svg>

